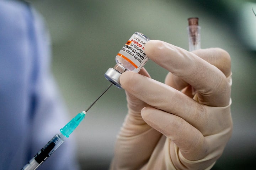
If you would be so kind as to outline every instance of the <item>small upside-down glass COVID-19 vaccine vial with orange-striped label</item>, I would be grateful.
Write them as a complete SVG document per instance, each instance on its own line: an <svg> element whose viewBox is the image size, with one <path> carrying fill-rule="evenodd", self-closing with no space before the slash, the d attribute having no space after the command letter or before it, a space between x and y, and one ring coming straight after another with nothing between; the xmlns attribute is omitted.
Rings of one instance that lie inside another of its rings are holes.
<svg viewBox="0 0 256 170"><path fill-rule="evenodd" d="M144 49L147 41L149 41L149 38L142 33L135 32L117 53L116 65L107 70L105 73L106 79L121 89L120 75L126 70L138 73L148 61L149 58Z"/></svg>

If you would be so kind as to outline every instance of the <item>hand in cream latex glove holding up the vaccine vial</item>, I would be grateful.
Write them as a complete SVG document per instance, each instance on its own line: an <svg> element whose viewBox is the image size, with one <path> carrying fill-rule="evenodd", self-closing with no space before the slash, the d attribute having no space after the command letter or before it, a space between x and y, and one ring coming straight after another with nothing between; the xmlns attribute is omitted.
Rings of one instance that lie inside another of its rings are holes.
<svg viewBox="0 0 256 170"><path fill-rule="evenodd" d="M188 52L159 40L148 41L145 52L170 73L165 84L144 68L121 75L128 114L110 169L212 168L233 128L229 54Z"/></svg>

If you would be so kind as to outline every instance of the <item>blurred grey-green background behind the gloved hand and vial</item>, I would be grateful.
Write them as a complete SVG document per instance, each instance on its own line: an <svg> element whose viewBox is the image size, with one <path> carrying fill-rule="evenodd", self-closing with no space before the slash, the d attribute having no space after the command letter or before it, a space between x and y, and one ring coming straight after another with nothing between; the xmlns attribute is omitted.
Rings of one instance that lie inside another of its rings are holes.
<svg viewBox="0 0 256 170"><path fill-rule="evenodd" d="M70 118L110 84L104 73L134 32L188 49L187 18L199 17L202 48L221 47L232 60L234 131L213 169L249 169L256 158L256 4L243 0L30 0L52 37L52 70ZM163 82L167 71L145 68ZM124 90L112 86L76 129L82 170L107 169L126 115Z"/></svg>

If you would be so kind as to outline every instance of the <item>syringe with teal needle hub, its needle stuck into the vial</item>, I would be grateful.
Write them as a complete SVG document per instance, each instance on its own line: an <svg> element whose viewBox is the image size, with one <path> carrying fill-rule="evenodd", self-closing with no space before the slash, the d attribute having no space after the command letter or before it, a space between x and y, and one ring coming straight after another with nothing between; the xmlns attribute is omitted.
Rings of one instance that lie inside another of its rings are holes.
<svg viewBox="0 0 256 170"><path fill-rule="evenodd" d="M84 119L86 112L97 102L97 100L111 87L111 83L105 91L83 112L78 113L72 120L69 121L60 133L53 136L53 138L25 165L21 170L35 170L46 161L50 155L65 141L66 138L75 130L75 128Z"/></svg>

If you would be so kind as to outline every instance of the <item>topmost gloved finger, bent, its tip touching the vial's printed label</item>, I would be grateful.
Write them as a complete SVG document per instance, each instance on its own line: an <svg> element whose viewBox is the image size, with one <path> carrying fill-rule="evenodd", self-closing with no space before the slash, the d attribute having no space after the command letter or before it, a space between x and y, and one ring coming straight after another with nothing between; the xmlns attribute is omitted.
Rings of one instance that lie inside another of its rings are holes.
<svg viewBox="0 0 256 170"><path fill-rule="evenodd" d="M198 92L199 103L218 107L229 104L230 86L217 67L164 41L148 41L145 52L159 66L192 85Z"/></svg>

